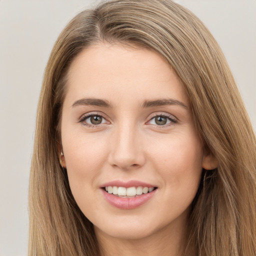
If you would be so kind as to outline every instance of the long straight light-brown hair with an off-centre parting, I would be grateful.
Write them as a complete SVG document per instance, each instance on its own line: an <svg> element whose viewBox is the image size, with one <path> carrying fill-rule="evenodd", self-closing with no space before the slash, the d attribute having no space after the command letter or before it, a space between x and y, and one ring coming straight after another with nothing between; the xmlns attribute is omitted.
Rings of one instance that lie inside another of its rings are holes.
<svg viewBox="0 0 256 256"><path fill-rule="evenodd" d="M72 59L98 41L135 43L162 55L190 99L205 150L218 167L202 179L184 255L256 255L256 139L226 60L202 22L171 0L109 0L77 14L45 68L31 162L29 255L99 255L92 223L58 162L59 122Z"/></svg>

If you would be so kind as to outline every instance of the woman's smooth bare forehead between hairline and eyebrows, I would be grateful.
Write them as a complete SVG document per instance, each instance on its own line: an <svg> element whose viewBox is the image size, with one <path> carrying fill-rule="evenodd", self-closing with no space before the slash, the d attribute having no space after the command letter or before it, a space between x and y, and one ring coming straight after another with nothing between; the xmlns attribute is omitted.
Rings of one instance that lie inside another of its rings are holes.
<svg viewBox="0 0 256 256"><path fill-rule="evenodd" d="M126 44L95 44L85 48L68 70L67 97L127 100L188 98L179 77L153 50Z"/></svg>

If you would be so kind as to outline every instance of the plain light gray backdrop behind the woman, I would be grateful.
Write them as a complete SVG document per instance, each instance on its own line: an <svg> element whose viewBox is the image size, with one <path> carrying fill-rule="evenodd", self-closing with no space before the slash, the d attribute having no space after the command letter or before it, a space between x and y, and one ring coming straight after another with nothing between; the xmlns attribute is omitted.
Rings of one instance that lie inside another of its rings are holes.
<svg viewBox="0 0 256 256"><path fill-rule="evenodd" d="M28 177L43 70L64 25L93 0L0 0L0 256L27 253ZM256 1L177 0L213 33L256 127Z"/></svg>

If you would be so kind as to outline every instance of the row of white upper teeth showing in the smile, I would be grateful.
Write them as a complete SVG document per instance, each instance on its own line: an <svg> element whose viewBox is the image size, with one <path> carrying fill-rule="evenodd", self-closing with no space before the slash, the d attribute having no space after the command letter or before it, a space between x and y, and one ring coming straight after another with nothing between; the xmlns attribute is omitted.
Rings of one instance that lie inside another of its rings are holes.
<svg viewBox="0 0 256 256"><path fill-rule="evenodd" d="M146 194L154 190L154 187L142 187L142 186L131 186L131 187L123 187L123 186L106 186L105 190L109 194L114 194L118 196L135 196L140 195L142 193Z"/></svg>

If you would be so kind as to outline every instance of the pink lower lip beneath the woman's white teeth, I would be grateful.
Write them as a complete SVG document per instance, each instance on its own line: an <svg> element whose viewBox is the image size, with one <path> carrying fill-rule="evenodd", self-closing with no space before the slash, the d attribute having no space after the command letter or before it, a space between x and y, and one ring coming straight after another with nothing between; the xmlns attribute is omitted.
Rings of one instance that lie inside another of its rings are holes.
<svg viewBox="0 0 256 256"><path fill-rule="evenodd" d="M105 199L114 207L119 209L134 209L145 202L147 202L154 194L157 189L154 189L153 191L137 195L135 197L118 197L113 194L109 194L105 190L102 189L103 195Z"/></svg>

